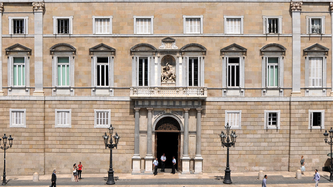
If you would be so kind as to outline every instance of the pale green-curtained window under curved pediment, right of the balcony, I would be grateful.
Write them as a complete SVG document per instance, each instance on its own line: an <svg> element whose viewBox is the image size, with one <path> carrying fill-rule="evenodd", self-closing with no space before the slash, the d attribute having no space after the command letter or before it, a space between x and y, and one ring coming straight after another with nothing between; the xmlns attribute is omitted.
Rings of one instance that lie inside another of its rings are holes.
<svg viewBox="0 0 333 187"><path fill-rule="evenodd" d="M278 57L266 57L267 87L278 87Z"/></svg>

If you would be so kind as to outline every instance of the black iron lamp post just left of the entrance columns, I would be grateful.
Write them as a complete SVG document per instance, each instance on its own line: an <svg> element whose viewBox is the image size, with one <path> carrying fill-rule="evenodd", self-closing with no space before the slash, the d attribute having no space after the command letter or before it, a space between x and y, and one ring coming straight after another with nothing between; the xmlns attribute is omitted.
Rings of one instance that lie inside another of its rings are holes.
<svg viewBox="0 0 333 187"><path fill-rule="evenodd" d="M117 148L117 145L118 145L118 141L119 141L119 138L120 136L118 135L118 133L116 132L116 134L113 136L115 138L115 143L113 143L112 141L112 134L113 134L113 129L115 127L112 127L112 124L110 124L110 127L108 128L109 129L109 133L110 133L110 141L109 141L109 135L106 134L106 132L104 133L104 135L102 135L103 139L104 139L104 143L105 143L105 149L109 148L110 149L110 168L109 168L109 171L108 171L108 180L106 181L106 184L109 184L109 185L112 185L112 184L115 184L115 178L113 176L113 168L112 168L112 149L114 147ZM108 143L110 142L110 143Z"/></svg>

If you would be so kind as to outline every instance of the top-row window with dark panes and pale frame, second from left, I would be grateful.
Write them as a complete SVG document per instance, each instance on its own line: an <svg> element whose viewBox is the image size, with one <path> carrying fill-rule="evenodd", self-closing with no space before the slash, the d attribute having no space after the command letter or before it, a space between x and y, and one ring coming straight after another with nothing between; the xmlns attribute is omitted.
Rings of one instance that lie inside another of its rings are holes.
<svg viewBox="0 0 333 187"><path fill-rule="evenodd" d="M53 16L54 34L73 34L73 16Z"/></svg>

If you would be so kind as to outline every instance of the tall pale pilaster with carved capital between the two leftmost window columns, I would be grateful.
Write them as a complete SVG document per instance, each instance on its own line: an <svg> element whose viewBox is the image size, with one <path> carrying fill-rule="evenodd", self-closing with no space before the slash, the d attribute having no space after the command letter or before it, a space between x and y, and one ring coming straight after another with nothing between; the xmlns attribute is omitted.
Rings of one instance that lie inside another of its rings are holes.
<svg viewBox="0 0 333 187"><path fill-rule="evenodd" d="M43 90L43 11L44 2L33 2L35 14L35 91L44 96Z"/></svg>

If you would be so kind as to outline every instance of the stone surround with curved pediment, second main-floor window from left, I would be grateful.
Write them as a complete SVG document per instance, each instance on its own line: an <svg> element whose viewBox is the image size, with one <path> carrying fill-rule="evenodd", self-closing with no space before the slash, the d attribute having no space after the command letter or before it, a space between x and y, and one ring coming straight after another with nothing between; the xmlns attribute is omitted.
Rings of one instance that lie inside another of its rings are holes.
<svg viewBox="0 0 333 187"><path fill-rule="evenodd" d="M67 43L58 43L50 48L50 54L52 55L52 95L71 95L74 93L74 64L76 48ZM58 86L58 57L69 57L70 63L70 85Z"/></svg>

